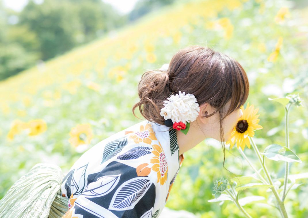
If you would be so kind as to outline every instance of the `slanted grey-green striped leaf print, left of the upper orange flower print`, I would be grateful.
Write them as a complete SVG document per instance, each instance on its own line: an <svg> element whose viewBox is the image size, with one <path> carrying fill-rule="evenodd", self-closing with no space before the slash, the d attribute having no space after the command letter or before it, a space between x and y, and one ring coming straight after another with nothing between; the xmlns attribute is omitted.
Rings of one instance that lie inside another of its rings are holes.
<svg viewBox="0 0 308 218"><path fill-rule="evenodd" d="M101 164L117 155L125 145L127 145L127 136L115 139L107 143L104 148L103 160Z"/></svg>

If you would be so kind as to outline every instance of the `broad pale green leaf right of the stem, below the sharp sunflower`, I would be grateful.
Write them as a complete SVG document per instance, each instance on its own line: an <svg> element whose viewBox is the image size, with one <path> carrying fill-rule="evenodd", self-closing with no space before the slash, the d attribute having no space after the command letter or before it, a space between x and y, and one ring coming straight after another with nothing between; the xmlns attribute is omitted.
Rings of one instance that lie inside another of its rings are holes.
<svg viewBox="0 0 308 218"><path fill-rule="evenodd" d="M260 152L261 153L261 152ZM286 162L298 162L302 163L302 160L286 146L281 146L278 144L271 144L264 149L264 153L261 153L265 157L271 160L283 160Z"/></svg>

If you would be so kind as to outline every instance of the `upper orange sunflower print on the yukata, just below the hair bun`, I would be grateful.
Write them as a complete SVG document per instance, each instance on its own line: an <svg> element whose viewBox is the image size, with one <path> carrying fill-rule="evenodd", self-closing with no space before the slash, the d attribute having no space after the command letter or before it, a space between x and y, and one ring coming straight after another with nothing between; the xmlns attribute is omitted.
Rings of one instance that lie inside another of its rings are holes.
<svg viewBox="0 0 308 218"><path fill-rule="evenodd" d="M152 140L157 140L155 132L152 129L152 125L147 123L145 125L140 125L139 132L126 131L125 134L132 133L129 136L129 139L133 139L136 144L140 142L144 142L147 144L151 144Z"/></svg>

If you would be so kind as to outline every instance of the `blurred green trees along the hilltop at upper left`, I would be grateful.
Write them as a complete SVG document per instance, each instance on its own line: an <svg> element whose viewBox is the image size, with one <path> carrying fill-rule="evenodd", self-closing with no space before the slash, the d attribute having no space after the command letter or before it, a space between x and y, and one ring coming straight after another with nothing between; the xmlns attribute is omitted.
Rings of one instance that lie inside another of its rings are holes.
<svg viewBox="0 0 308 218"><path fill-rule="evenodd" d="M140 0L121 15L102 0L29 0L20 12L0 0L0 80L104 36L174 0Z"/></svg>

